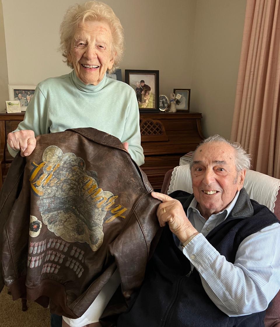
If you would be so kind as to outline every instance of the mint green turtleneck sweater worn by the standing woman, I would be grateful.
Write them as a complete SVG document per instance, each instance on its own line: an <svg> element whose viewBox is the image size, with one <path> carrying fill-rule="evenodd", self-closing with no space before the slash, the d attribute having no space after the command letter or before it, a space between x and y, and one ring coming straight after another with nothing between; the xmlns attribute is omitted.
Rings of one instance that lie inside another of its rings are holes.
<svg viewBox="0 0 280 327"><path fill-rule="evenodd" d="M138 165L144 163L135 92L106 75L95 86L85 85L74 70L42 81L16 130L32 129L37 136L80 127L93 127L128 142L131 157ZM8 150L12 156L17 154L9 146Z"/></svg>

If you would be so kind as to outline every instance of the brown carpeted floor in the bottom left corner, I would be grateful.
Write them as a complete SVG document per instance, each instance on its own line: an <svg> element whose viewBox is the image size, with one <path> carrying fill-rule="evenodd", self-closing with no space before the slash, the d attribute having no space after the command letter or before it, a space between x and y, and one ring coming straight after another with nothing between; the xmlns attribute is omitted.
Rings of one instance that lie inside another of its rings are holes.
<svg viewBox="0 0 280 327"><path fill-rule="evenodd" d="M50 327L50 311L35 302L27 302L23 312L21 300L13 301L7 287L0 294L0 327Z"/></svg>

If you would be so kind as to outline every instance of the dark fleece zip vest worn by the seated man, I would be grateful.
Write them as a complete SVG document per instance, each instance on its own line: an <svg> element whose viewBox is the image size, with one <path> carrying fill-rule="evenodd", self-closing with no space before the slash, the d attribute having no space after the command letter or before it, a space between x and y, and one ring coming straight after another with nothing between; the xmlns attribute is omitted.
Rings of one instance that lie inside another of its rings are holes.
<svg viewBox="0 0 280 327"><path fill-rule="evenodd" d="M245 191L245 190L244 190ZM244 193L242 191L242 193ZM174 194L179 195L178 193ZM244 195L244 194L242 194ZM246 197L248 198L247 194ZM187 210L193 196L178 198ZM248 198L249 201L249 198ZM245 206L241 203L241 207ZM253 215L238 217L236 211L215 227L206 239L234 263L240 243L262 228L279 222L272 212L250 200ZM239 203L240 204L240 203ZM248 206L248 204L247 204ZM242 208L241 208L242 209ZM244 212L244 210L240 210ZM200 276L176 247L168 225L163 229L156 251L146 270L144 283L134 304L120 316L118 327L261 327L265 311L247 316L228 317L208 297Z"/></svg>

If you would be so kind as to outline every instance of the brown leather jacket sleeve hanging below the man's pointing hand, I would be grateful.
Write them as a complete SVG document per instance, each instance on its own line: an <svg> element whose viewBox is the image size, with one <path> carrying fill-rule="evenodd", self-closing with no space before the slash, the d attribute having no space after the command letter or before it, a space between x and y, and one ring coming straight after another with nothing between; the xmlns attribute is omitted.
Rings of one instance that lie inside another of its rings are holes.
<svg viewBox="0 0 280 327"><path fill-rule="evenodd" d="M142 197L122 233L110 244L120 271L123 295L129 299L140 287L146 264L154 250L161 229L156 216L160 201L150 194Z"/></svg>

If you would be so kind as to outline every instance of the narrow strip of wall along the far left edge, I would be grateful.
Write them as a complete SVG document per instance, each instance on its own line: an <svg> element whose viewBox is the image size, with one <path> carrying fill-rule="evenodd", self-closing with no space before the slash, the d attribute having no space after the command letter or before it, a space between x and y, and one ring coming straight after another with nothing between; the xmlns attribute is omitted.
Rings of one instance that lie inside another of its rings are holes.
<svg viewBox="0 0 280 327"><path fill-rule="evenodd" d="M9 99L8 93L8 69L5 46L5 33L2 2L0 0L0 112L5 112L5 101Z"/></svg>

